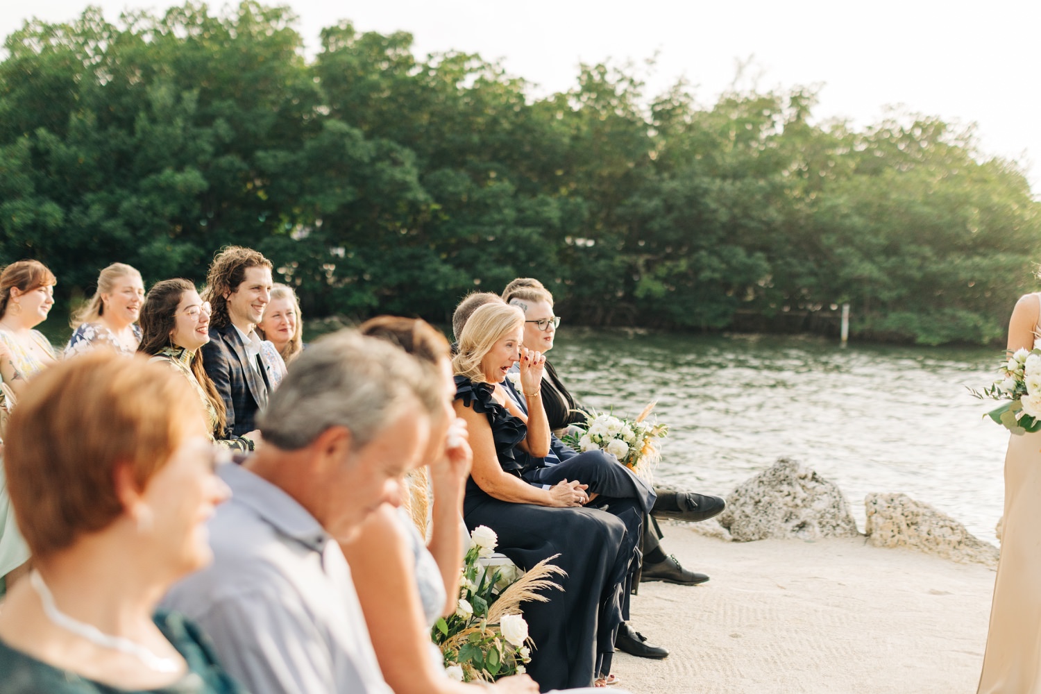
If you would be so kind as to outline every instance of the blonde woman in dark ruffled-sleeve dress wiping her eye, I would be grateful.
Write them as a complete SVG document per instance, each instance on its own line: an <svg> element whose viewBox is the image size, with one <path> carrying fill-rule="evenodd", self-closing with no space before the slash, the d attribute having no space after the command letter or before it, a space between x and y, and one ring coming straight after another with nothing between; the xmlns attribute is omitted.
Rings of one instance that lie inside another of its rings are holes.
<svg viewBox="0 0 1041 694"><path fill-rule="evenodd" d="M614 636L623 621L621 600L639 537L639 507L618 499L618 516L583 508L587 486L556 480L535 486L517 454L540 460L550 449L550 430L539 402L543 357L520 346L524 313L500 303L477 309L459 336L452 360L456 413L466 421L474 467L466 484L463 517L474 529L499 535L499 551L523 569L554 555L567 572L563 594L525 609L538 644L528 672L542 691L588 687L612 680ZM506 393L502 381L519 361L528 415ZM635 521L635 537L627 528Z"/></svg>

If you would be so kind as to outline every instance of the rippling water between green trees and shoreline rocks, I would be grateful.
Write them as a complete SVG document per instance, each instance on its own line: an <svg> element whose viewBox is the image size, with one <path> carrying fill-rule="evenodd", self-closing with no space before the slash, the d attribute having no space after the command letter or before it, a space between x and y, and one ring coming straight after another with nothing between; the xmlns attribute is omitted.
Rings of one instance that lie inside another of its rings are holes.
<svg viewBox="0 0 1041 694"><path fill-rule="evenodd" d="M999 353L817 337L562 329L551 360L586 406L636 416L657 400L670 434L657 474L726 495L790 457L835 482L864 528L864 495L904 492L995 542L1009 434L965 387Z"/></svg>

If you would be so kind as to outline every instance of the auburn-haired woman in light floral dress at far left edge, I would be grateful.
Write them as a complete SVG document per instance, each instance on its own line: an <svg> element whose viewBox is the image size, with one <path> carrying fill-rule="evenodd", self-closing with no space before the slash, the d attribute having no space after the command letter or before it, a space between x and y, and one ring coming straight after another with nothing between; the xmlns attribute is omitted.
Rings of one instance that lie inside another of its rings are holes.
<svg viewBox="0 0 1041 694"><path fill-rule="evenodd" d="M57 363L51 343L34 330L54 306L55 283L51 271L36 260L12 262L0 273L0 437L29 379ZM2 478L0 470L0 579L9 589L28 570L29 547L18 532Z"/></svg>

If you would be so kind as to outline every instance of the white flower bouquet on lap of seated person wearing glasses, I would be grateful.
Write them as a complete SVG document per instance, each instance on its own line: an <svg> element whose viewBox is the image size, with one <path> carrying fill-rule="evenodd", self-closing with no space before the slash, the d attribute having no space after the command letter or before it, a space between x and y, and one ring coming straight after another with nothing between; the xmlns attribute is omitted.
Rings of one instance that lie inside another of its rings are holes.
<svg viewBox="0 0 1041 694"><path fill-rule="evenodd" d="M658 440L668 436L667 425L646 421L654 406L649 404L635 419L581 412L586 418L585 429L576 427L578 433L569 433L562 440L579 453L600 448L634 472L650 472L661 459Z"/></svg>

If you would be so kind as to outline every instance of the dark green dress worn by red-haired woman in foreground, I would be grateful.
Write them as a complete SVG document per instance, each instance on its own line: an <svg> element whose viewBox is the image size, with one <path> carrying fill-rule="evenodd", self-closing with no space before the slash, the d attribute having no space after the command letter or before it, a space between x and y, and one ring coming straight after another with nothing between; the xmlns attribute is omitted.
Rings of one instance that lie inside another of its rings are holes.
<svg viewBox="0 0 1041 694"><path fill-rule="evenodd" d="M154 694L246 694L224 671L209 639L199 627L177 613L159 612L155 623L188 664L179 680ZM144 694L142 690L118 689L74 672L61 670L15 650L0 641L0 694Z"/></svg>

